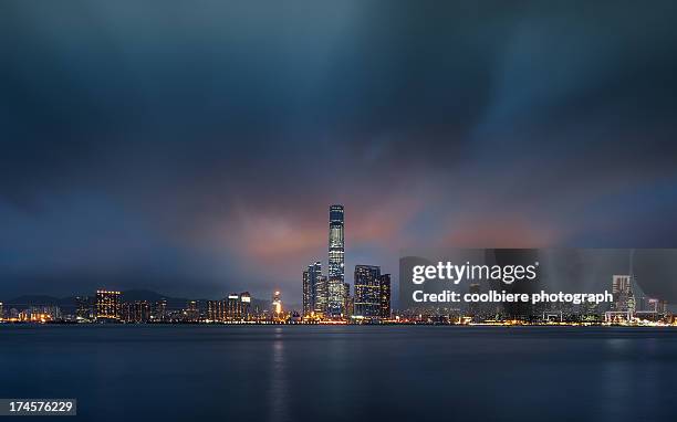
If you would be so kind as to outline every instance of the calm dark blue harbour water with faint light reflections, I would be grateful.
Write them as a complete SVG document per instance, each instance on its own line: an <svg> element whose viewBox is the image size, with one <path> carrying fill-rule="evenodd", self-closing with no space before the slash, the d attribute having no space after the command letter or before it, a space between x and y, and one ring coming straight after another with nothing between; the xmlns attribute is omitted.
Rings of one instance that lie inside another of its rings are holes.
<svg viewBox="0 0 677 422"><path fill-rule="evenodd" d="M0 398L96 421L658 421L677 330L0 326Z"/></svg>

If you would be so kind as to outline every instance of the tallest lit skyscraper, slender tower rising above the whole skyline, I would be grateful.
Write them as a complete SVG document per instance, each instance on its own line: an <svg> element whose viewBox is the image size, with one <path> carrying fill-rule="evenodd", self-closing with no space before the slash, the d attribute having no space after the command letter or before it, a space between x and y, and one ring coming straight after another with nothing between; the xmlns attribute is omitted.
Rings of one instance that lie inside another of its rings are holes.
<svg viewBox="0 0 677 422"><path fill-rule="evenodd" d="M330 317L340 317L344 309L343 283L345 266L343 205L330 207L327 309Z"/></svg>

